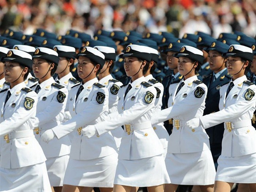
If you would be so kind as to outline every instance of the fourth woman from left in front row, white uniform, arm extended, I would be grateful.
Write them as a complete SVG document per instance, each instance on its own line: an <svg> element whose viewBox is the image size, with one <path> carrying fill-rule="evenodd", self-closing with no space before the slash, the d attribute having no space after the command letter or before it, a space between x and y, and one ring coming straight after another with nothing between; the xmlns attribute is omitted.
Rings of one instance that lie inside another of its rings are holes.
<svg viewBox="0 0 256 192"><path fill-rule="evenodd" d="M146 62L151 61L146 48L128 45L125 53L120 55L124 58L126 74L132 79L118 91L118 112L113 113L110 120L83 129L85 136L93 138L124 126L114 192L129 192L133 187L163 192L163 184L170 182L162 156L163 147L150 122L157 91L143 76Z"/></svg>

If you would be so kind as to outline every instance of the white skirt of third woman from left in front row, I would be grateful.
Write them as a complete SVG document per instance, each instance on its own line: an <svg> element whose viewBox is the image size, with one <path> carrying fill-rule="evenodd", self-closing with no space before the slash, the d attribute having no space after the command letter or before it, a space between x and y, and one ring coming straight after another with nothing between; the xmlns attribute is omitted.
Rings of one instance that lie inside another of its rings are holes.
<svg viewBox="0 0 256 192"><path fill-rule="evenodd" d="M113 187L117 153L90 160L69 159L64 185Z"/></svg>

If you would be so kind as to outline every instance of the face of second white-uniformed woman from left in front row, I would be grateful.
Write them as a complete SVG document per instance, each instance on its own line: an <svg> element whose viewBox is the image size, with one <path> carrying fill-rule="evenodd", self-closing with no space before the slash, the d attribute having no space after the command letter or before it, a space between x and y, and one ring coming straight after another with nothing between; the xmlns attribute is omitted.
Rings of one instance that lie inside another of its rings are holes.
<svg viewBox="0 0 256 192"><path fill-rule="evenodd" d="M50 68L51 68L51 65L45 59L40 59L40 58L33 59L32 69L36 78L42 79L45 77L47 73L50 74L50 71L49 71Z"/></svg>

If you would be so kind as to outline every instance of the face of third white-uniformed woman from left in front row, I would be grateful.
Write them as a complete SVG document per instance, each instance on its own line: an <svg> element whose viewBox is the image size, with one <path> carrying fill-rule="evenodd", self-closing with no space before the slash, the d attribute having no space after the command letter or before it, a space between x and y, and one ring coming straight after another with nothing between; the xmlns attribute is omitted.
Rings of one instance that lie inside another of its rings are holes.
<svg viewBox="0 0 256 192"><path fill-rule="evenodd" d="M81 79L86 78L91 73L91 71L93 71L94 67L94 64L91 63L89 58L79 56L77 72ZM93 72L91 74L93 74Z"/></svg>

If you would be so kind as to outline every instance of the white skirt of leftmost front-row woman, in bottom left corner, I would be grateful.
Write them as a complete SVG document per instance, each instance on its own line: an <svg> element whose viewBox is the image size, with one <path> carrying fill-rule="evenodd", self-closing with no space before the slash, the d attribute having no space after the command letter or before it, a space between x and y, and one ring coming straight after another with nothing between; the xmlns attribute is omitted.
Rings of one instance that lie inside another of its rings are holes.
<svg viewBox="0 0 256 192"><path fill-rule="evenodd" d="M0 167L0 191L52 192L45 162L16 169Z"/></svg>

